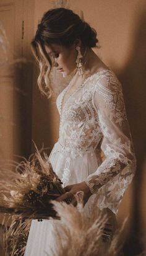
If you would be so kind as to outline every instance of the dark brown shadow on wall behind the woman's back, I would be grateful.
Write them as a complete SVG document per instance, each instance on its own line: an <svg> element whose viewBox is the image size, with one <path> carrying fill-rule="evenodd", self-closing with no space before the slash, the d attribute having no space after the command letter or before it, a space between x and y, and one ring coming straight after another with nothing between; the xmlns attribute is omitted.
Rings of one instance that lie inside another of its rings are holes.
<svg viewBox="0 0 146 256"><path fill-rule="evenodd" d="M145 194L144 162L146 157L146 10L135 25L134 44L126 66L118 74L123 86L127 116L137 157L137 172L133 181L131 230L124 245L125 256L134 256L144 250Z"/></svg>

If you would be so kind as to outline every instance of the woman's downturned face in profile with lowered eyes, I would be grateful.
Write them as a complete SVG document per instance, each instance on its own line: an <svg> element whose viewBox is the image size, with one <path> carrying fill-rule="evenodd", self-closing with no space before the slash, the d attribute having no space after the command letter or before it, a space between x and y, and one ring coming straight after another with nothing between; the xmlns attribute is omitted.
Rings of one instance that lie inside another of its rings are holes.
<svg viewBox="0 0 146 256"><path fill-rule="evenodd" d="M45 46L45 49L51 60L54 59L54 66L59 72L69 75L74 71L77 58L75 43L69 47L51 43L49 46Z"/></svg>

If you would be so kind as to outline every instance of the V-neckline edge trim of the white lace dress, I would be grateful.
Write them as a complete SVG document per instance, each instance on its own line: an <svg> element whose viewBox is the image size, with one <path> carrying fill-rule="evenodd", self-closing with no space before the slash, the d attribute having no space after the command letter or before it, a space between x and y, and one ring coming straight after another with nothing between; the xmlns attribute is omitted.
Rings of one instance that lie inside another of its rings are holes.
<svg viewBox="0 0 146 256"><path fill-rule="evenodd" d="M62 112L63 112L63 110L64 110L64 107L66 107L67 102L69 101L69 99L71 99L71 97L75 94L75 92L77 92L77 91L80 89L80 87L83 87L84 84L88 81L88 79L92 78L93 76L97 76L97 75L99 75L99 74L101 74L101 73L103 73L103 72L105 72L105 71L111 71L111 72L113 72L111 69L101 69L100 71L98 71L98 72L96 72L96 73L94 73L94 74L92 74L92 75L89 75L87 78L84 79L84 81L80 84L80 86L78 86L78 87L74 90L74 92L72 92L72 94L69 95L69 97L67 98L66 102L64 102L64 104L63 104L63 106L62 106L62 102L63 102L63 100L64 100L64 96L66 95L66 92L67 92L67 90L69 89L69 86L71 85L72 79L74 78L74 77L72 77L72 79L71 79L71 81L69 82L68 86L63 90L63 93L62 93L61 102L60 102L60 112L61 112L61 115L62 115Z"/></svg>

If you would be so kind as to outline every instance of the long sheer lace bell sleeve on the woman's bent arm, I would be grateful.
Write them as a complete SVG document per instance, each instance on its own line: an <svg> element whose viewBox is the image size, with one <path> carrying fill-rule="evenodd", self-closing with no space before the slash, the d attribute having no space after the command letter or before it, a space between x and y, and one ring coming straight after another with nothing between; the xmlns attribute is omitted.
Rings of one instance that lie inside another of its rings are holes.
<svg viewBox="0 0 146 256"><path fill-rule="evenodd" d="M98 79L93 93L93 105L103 133L101 149L105 161L85 182L92 193L98 193L103 187L106 201L118 205L134 176L136 161L122 86L116 75Z"/></svg>

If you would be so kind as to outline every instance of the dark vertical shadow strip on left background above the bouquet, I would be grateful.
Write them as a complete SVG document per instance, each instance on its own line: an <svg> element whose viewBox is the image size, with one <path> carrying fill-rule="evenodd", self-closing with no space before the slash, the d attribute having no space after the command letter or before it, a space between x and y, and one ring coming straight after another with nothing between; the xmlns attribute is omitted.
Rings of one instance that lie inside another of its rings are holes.
<svg viewBox="0 0 146 256"><path fill-rule="evenodd" d="M14 65L14 155L28 157L31 154L32 139L32 74L31 60ZM22 161L21 157L15 160Z"/></svg>

